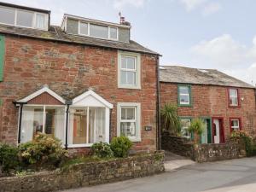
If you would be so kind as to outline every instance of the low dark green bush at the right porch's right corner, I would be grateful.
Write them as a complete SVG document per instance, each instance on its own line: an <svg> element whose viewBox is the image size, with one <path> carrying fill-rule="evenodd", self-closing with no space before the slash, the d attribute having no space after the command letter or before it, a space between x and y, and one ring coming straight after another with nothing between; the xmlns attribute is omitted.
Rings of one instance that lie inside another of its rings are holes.
<svg viewBox="0 0 256 192"><path fill-rule="evenodd" d="M108 143L94 143L91 146L92 153L99 158L112 158L113 151Z"/></svg>

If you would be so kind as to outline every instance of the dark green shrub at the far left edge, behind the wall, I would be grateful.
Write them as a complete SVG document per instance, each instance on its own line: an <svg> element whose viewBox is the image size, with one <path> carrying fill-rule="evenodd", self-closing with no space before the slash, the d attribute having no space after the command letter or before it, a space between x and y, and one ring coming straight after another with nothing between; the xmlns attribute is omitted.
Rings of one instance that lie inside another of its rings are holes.
<svg viewBox="0 0 256 192"><path fill-rule="evenodd" d="M1 171L9 173L19 166L18 148L8 144L0 144Z"/></svg>

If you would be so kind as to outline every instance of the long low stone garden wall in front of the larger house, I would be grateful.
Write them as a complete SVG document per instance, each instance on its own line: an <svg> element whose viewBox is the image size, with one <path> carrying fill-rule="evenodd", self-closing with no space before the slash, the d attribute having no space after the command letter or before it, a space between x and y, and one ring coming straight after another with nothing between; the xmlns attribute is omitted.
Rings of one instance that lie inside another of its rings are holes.
<svg viewBox="0 0 256 192"><path fill-rule="evenodd" d="M0 178L0 192L44 192L145 177L165 171L164 152L125 159L96 161L69 166L54 172Z"/></svg>

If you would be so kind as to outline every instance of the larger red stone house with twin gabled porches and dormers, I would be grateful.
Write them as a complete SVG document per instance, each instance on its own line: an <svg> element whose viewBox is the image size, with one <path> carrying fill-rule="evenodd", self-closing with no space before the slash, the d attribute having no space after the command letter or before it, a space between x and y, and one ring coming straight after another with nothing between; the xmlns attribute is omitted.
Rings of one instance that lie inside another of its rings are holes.
<svg viewBox="0 0 256 192"><path fill-rule="evenodd" d="M124 134L155 150L159 54L130 39L131 26L0 3L0 142L37 131L73 151Z"/></svg>

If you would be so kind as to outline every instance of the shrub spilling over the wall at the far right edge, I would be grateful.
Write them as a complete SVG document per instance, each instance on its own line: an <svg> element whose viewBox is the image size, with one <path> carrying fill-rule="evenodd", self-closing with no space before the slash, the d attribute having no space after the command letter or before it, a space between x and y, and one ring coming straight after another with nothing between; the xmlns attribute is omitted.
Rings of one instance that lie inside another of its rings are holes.
<svg viewBox="0 0 256 192"><path fill-rule="evenodd" d="M232 139L239 139L245 144L247 156L252 156L255 154L255 146L253 145L253 138L250 137L247 132L245 131L233 131L231 133L231 140Z"/></svg>

